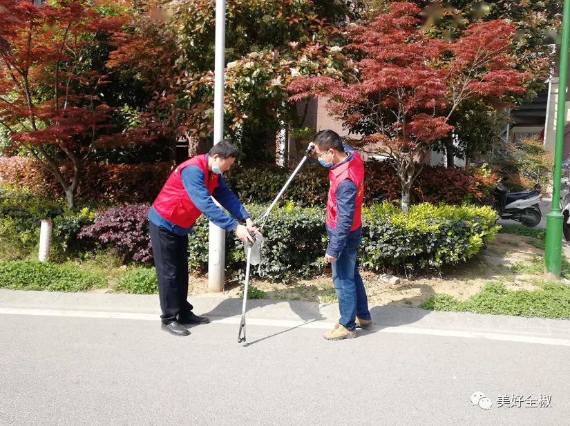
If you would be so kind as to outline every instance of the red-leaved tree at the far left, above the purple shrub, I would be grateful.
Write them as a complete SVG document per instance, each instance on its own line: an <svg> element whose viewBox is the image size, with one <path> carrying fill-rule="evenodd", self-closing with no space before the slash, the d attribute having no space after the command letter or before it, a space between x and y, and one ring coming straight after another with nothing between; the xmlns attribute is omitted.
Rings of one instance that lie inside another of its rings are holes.
<svg viewBox="0 0 570 426"><path fill-rule="evenodd" d="M91 66L90 53L120 28L121 10L102 17L87 0L41 8L0 0L0 125L9 132L8 151L23 150L53 173L70 207L84 161L97 137L108 133L112 112L99 96L106 75Z"/></svg>

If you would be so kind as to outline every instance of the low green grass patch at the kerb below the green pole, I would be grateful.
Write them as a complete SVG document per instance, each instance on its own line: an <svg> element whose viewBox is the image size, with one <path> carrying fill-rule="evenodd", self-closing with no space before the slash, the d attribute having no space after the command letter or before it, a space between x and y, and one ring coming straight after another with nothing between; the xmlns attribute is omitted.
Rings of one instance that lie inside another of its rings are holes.
<svg viewBox="0 0 570 426"><path fill-rule="evenodd" d="M561 282L540 282L535 291L507 290L502 282L490 282L464 302L447 294L426 300L421 307L433 311L492 313L540 318L570 319L570 286Z"/></svg>

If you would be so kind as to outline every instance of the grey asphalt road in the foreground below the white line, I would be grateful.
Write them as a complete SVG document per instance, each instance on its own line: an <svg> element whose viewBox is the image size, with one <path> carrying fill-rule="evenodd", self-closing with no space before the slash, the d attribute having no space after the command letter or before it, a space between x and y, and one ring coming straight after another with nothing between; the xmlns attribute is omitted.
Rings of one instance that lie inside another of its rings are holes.
<svg viewBox="0 0 570 426"><path fill-rule="evenodd" d="M0 425L570 425L567 345L323 331L0 313Z"/></svg>

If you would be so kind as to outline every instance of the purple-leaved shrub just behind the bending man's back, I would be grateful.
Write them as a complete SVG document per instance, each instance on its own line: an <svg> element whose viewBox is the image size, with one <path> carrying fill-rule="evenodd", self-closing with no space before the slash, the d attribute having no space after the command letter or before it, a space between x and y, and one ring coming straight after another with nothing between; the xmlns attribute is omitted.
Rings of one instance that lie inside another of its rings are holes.
<svg viewBox="0 0 570 426"><path fill-rule="evenodd" d="M152 260L149 238L148 204L123 204L100 213L95 223L84 226L79 239L111 246L122 255L123 262Z"/></svg>

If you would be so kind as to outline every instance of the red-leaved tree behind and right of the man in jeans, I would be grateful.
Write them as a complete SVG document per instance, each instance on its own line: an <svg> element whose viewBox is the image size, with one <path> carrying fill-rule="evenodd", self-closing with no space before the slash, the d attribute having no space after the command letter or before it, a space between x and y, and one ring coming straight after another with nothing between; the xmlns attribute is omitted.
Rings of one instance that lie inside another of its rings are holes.
<svg viewBox="0 0 570 426"><path fill-rule="evenodd" d="M515 30L505 21L476 23L444 43L419 30L415 4L392 2L388 10L348 28L343 78L298 77L289 85L289 100L327 97L330 111L363 135L370 151L388 155L407 212L431 146L453 130L453 110L467 99L508 101L524 91L529 75L514 70Z"/></svg>

